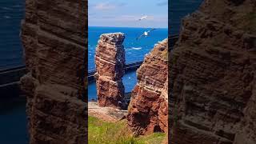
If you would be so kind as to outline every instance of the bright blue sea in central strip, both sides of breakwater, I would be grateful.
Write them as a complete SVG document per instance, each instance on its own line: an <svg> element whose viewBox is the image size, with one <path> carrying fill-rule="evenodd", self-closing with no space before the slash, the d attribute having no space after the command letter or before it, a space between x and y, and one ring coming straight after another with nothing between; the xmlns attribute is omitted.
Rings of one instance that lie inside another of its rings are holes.
<svg viewBox="0 0 256 144"><path fill-rule="evenodd" d="M145 54L153 49L154 44L167 38L168 29L158 28L150 33L147 38L136 40L144 31L151 28L130 28L130 27L94 27L88 28L88 70L95 70L94 54L101 34L122 32L126 38L123 45L126 50L126 64L143 61ZM137 82L136 72L130 72L123 77L125 91L130 92ZM97 98L96 85L92 82L88 86L89 100Z"/></svg>

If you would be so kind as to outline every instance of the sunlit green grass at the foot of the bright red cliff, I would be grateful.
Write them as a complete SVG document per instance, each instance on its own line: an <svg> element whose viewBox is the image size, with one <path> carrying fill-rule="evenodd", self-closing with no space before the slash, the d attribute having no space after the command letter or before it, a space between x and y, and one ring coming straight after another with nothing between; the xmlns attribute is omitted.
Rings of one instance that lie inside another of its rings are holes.
<svg viewBox="0 0 256 144"><path fill-rule="evenodd" d="M166 138L166 134L154 133L135 138L126 127L126 120L104 122L98 118L88 118L88 140L90 144L154 144Z"/></svg>

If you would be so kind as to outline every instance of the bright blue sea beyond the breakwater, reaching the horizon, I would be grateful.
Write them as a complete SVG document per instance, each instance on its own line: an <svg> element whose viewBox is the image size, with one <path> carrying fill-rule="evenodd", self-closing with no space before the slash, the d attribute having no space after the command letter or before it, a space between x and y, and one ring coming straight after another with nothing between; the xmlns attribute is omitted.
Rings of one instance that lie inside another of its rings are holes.
<svg viewBox="0 0 256 144"><path fill-rule="evenodd" d="M126 38L123 42L126 50L126 63L139 62L144 55L153 49L154 44L168 37L168 29L156 29L147 38L136 40L144 31L151 28L134 27L110 27L110 26L89 26L88 27L88 70L95 70L94 55L98 39L101 34L121 32Z"/></svg>

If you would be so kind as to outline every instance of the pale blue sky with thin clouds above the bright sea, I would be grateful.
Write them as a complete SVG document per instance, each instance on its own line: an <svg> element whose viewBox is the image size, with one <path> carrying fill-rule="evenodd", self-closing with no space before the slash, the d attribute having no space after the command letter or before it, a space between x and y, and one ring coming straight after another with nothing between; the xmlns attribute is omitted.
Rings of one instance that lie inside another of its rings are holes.
<svg viewBox="0 0 256 144"><path fill-rule="evenodd" d="M168 0L88 0L89 26L168 27ZM143 15L148 18L138 21Z"/></svg>

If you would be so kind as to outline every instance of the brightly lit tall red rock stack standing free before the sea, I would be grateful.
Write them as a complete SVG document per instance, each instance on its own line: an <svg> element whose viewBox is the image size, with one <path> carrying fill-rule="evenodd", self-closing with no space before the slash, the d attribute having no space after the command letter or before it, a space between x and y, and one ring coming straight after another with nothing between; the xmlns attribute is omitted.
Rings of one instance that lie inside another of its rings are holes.
<svg viewBox="0 0 256 144"><path fill-rule="evenodd" d="M124 34L102 34L95 54L98 106L120 107L124 98Z"/></svg>

